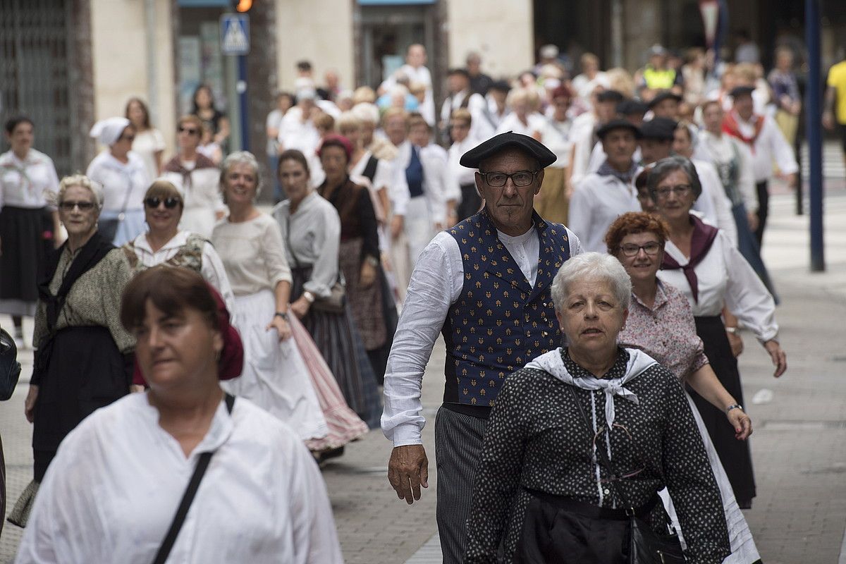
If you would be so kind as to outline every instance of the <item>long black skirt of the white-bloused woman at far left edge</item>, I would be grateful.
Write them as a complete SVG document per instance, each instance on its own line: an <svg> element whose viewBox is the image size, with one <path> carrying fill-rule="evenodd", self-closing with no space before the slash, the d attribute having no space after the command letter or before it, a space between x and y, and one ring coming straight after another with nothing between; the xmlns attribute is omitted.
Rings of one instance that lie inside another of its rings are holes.
<svg viewBox="0 0 846 564"><path fill-rule="evenodd" d="M0 210L0 314L35 315L38 269L52 249L47 208Z"/></svg>

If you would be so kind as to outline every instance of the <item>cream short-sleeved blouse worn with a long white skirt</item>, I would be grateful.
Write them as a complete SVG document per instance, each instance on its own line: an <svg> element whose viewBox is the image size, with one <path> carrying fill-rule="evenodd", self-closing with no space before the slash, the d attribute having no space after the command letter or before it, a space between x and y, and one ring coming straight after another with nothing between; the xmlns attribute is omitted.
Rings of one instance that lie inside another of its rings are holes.
<svg viewBox="0 0 846 564"><path fill-rule="evenodd" d="M282 233L271 216L261 213L238 223L224 218L214 227L211 244L223 261L236 296L274 291L277 283L291 282Z"/></svg>

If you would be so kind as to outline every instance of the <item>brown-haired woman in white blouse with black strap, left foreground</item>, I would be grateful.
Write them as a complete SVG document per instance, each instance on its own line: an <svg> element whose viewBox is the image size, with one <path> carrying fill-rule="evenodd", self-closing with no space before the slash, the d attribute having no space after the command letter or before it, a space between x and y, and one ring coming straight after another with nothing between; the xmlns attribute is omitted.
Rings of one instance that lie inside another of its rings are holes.
<svg viewBox="0 0 846 564"><path fill-rule="evenodd" d="M63 442L16 562L342 562L326 486L298 435L221 390L222 335L202 277L140 273L120 319L150 389ZM187 515L174 517L184 494Z"/></svg>

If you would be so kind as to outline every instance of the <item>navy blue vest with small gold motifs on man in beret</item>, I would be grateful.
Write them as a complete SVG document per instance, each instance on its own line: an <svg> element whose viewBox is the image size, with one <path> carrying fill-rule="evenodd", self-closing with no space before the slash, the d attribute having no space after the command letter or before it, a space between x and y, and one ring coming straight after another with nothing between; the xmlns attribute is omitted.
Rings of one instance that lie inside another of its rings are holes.
<svg viewBox="0 0 846 564"><path fill-rule="evenodd" d="M570 257L567 229L533 214L540 253L535 287L482 210L448 230L461 250L464 287L441 330L443 401L492 407L505 377L561 344L550 287Z"/></svg>

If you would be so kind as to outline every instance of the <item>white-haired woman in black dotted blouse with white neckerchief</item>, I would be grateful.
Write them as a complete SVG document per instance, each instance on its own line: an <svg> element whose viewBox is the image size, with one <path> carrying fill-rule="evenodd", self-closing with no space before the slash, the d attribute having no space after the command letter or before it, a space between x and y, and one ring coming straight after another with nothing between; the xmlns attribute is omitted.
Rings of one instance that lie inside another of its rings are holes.
<svg viewBox="0 0 846 564"><path fill-rule="evenodd" d="M509 375L497 396L465 562L497 561L503 541L506 561L622 564L622 507L666 533L665 486L688 561L728 556L720 492L684 389L642 351L618 346L630 295L612 256L577 255L558 271L552 301L569 346Z"/></svg>

